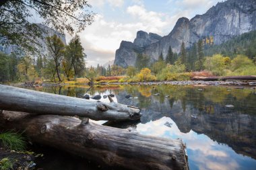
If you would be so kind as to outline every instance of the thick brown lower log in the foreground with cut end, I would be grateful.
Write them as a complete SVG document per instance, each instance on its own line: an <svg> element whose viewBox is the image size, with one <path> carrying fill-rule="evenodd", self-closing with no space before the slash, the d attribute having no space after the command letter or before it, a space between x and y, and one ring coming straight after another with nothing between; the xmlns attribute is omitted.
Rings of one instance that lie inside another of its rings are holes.
<svg viewBox="0 0 256 170"><path fill-rule="evenodd" d="M74 117L3 111L0 128L25 130L34 142L119 169L188 169L181 139L145 136Z"/></svg>

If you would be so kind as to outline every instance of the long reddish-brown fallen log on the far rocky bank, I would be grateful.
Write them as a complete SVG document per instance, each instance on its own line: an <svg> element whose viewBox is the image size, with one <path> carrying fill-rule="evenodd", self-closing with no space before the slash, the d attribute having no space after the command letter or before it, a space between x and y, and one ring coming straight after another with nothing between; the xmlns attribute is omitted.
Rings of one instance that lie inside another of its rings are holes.
<svg viewBox="0 0 256 170"><path fill-rule="evenodd" d="M192 77L195 81L226 81L226 80L256 80L256 75L227 76L227 77Z"/></svg>

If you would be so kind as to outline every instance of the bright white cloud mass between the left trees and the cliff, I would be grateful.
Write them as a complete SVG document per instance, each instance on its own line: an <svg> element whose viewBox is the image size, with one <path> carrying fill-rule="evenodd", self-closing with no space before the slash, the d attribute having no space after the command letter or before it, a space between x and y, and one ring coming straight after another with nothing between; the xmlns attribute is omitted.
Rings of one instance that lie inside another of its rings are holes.
<svg viewBox="0 0 256 170"><path fill-rule="evenodd" d="M162 29L170 28L170 24L172 24L170 19L173 19L164 13L147 11L139 5L127 7L127 15L134 17L134 21L129 23L106 21L103 15L97 15L92 26L89 26L80 34L88 54L88 65L96 65L97 62L103 65L105 58L106 62L113 60L115 58L115 50L119 48L121 41L132 42L136 32L139 30L163 34ZM103 60L97 61L95 59L97 56L93 58L90 56L90 54L95 55L97 51L98 56L102 56L102 52L107 52L108 54L102 58Z"/></svg>

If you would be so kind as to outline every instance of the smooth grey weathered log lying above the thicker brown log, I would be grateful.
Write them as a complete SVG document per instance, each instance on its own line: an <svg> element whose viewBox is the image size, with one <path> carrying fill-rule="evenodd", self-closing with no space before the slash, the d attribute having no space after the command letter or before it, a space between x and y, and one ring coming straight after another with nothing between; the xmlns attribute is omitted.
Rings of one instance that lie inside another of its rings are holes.
<svg viewBox="0 0 256 170"><path fill-rule="evenodd" d="M92 120L137 120L139 108L121 103L88 101L76 97L0 85L0 109L33 114L59 114Z"/></svg>

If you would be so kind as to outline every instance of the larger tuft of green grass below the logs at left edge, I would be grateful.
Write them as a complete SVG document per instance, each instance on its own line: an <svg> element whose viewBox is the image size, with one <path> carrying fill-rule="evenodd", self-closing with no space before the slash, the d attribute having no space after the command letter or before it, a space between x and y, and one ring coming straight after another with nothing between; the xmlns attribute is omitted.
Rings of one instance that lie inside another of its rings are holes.
<svg viewBox="0 0 256 170"><path fill-rule="evenodd" d="M11 131L2 132L0 134L0 141L4 148L15 151L24 151L26 149L25 138L20 133Z"/></svg>

